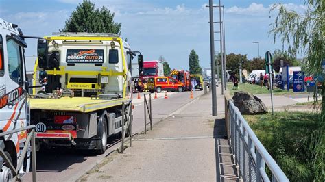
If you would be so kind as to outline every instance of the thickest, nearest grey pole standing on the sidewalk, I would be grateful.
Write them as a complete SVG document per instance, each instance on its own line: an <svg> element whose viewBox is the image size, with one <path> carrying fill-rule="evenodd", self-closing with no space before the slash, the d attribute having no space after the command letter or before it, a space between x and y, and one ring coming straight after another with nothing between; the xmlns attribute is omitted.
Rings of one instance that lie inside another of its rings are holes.
<svg viewBox="0 0 325 182"><path fill-rule="evenodd" d="M213 0L209 0L210 14L210 58L212 83L212 116L217 116L217 89L215 86L215 36L213 31Z"/></svg>

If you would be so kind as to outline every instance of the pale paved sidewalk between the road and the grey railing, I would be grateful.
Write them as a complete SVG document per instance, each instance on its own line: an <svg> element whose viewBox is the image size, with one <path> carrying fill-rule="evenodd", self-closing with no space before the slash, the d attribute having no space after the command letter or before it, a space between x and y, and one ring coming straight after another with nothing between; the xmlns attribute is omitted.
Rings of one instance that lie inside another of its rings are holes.
<svg viewBox="0 0 325 182"><path fill-rule="evenodd" d="M217 107L219 116L211 116L210 92L195 99L80 181L239 181L224 139L224 96L217 96Z"/></svg>

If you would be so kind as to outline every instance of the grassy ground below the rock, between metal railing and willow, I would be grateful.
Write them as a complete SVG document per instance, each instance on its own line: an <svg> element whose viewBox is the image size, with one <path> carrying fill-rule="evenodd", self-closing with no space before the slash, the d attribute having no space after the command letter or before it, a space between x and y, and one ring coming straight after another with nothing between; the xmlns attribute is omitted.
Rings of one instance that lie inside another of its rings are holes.
<svg viewBox="0 0 325 182"><path fill-rule="evenodd" d="M306 147L305 140L319 127L317 117L317 114L310 112L244 116L290 181L313 181L313 155Z"/></svg>

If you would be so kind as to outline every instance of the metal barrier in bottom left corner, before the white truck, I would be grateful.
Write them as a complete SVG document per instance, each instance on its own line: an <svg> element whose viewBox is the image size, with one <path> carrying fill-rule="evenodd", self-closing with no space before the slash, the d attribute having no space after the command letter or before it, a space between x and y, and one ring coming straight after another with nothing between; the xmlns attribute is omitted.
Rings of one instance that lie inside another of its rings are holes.
<svg viewBox="0 0 325 182"><path fill-rule="evenodd" d="M5 161L5 164L8 164L8 168L10 168L10 170L12 171L12 173L14 174L14 178L12 179L12 181L22 181L21 179L21 175L20 175L20 169L23 166L23 161L25 158L25 155L28 151L29 148L29 142L31 143L32 146L32 180L35 182L36 181L36 145L35 145L35 125L29 125L27 127L23 127L20 129L14 129L12 131L5 131L3 133L0 133L0 138L4 137L5 135L11 135L13 133L18 133L20 131L25 131L25 130L31 130L29 131L28 135L27 135L27 139L25 141L24 147L23 147L23 151L21 152L21 156L19 157L19 160L17 162L17 166L16 168L14 168L14 165L12 164L12 162L8 159L7 155L5 155L5 151L3 151L2 148L0 148L0 156L3 158L3 160ZM27 169L29 170L29 167L27 167ZM27 172L27 171L26 171Z"/></svg>

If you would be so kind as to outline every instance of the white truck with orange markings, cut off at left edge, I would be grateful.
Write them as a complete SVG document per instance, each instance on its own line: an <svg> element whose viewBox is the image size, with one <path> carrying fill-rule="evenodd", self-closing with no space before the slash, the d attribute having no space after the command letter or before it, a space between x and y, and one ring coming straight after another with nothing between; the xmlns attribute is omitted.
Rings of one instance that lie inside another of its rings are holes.
<svg viewBox="0 0 325 182"><path fill-rule="evenodd" d="M27 47L23 32L17 25L0 18L0 132L26 127L29 123L29 107L24 48ZM0 148L16 168L22 153L21 147L27 131L5 135L0 138ZM28 155L28 154L27 154ZM27 159L29 164L29 159ZM0 157L0 181L11 181L13 172ZM29 170L27 165L26 172ZM25 174L23 168L19 176Z"/></svg>

